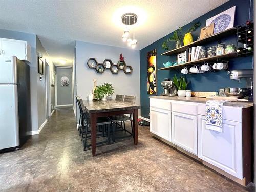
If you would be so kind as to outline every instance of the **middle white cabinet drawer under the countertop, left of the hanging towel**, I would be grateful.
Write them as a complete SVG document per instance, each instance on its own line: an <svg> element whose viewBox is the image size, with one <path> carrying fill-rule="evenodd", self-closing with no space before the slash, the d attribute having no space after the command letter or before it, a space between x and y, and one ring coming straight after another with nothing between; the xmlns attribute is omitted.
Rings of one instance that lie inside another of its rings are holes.
<svg viewBox="0 0 256 192"><path fill-rule="evenodd" d="M197 104L188 102L172 102L172 111L186 113L190 115L197 115Z"/></svg>

